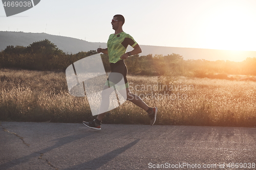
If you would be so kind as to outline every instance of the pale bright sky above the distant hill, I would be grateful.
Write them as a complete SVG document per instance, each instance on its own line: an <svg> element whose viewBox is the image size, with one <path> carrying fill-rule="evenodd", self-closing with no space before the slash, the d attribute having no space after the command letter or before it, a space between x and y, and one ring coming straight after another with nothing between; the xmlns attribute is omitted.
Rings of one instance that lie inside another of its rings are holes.
<svg viewBox="0 0 256 170"><path fill-rule="evenodd" d="M0 5L0 31L106 42L115 14L141 45L256 51L255 0L41 0L9 17Z"/></svg>

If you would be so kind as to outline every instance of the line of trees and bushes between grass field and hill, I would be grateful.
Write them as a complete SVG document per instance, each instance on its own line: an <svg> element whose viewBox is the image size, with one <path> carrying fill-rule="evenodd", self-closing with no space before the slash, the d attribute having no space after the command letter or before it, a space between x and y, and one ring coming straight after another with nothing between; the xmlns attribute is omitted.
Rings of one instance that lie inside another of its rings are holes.
<svg viewBox="0 0 256 170"><path fill-rule="evenodd" d="M0 52L0 68L20 68L32 70L65 71L66 68L84 57L97 54L95 50L66 54L51 41L45 39L29 46L9 45ZM256 57L256 56L255 56ZM106 71L110 71L108 55L101 54ZM179 54L167 56L152 54L134 55L125 60L129 74L146 76L193 75L209 77L215 74L256 75L256 58L246 58L242 62L184 60Z"/></svg>

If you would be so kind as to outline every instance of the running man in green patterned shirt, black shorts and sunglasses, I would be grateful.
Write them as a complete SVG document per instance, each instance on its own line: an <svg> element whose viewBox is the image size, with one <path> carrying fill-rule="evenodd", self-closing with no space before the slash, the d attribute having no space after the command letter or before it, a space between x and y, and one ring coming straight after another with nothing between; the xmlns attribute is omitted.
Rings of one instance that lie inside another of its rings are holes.
<svg viewBox="0 0 256 170"><path fill-rule="evenodd" d="M122 15L115 15L113 17L111 24L112 24L113 30L115 30L115 33L110 35L108 43L107 43L108 47L104 48L104 49L98 48L97 52L109 55L111 72L118 72L118 73L122 74L122 76L123 76L124 83L125 83L124 90L125 90L126 97L127 97L126 100L131 101L135 105L144 109L151 119L150 125L154 125L156 122L157 107L155 107L155 108L148 107L139 96L132 94L129 89L129 84L126 79L127 68L124 63L124 60L127 57L129 57L131 55L139 54L142 51L141 51L139 44L133 39L133 37L131 35L123 32L123 30L122 30L123 23L124 23L124 17ZM131 52L125 53L128 45L131 45L134 48L134 50ZM110 78L110 76L109 76L109 78ZM108 81L109 81L109 79L108 79ZM110 85L105 84L103 87L103 91L106 91L104 89L108 89L108 88L110 88ZM108 95L101 94L101 95L102 95L102 99L101 99L100 108L102 108L103 102L108 101L110 94L108 94ZM106 100L103 98L105 98ZM98 114L97 118L92 120L91 122L83 121L83 124L85 126L87 126L88 128L101 130L100 125L101 125L101 121L102 121L103 117L105 116L105 113L106 112Z"/></svg>

